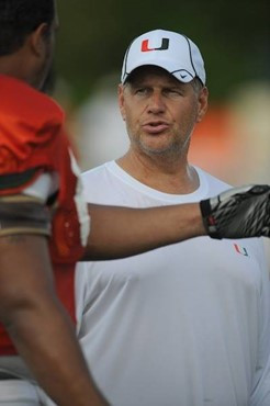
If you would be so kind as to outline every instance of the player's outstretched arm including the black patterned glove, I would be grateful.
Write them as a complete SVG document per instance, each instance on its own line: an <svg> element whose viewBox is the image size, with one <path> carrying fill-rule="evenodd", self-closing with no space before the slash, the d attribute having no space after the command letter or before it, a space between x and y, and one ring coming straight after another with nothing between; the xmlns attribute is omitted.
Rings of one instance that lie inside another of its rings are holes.
<svg viewBox="0 0 270 406"><path fill-rule="evenodd" d="M122 258L203 235L269 237L270 188L249 185L200 203L155 208L89 204L89 260Z"/></svg>

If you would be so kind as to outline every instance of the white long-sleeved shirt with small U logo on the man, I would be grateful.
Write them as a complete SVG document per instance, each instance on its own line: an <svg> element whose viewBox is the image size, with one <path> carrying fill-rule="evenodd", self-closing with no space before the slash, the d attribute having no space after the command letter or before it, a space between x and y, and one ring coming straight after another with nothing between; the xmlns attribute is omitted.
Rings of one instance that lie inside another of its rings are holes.
<svg viewBox="0 0 270 406"><path fill-rule="evenodd" d="M184 195L150 189L114 161L82 180L89 202L133 207L196 202L228 189L196 171L200 187ZM259 405L270 304L258 238L198 237L78 267L79 339L113 406L246 406L250 395Z"/></svg>

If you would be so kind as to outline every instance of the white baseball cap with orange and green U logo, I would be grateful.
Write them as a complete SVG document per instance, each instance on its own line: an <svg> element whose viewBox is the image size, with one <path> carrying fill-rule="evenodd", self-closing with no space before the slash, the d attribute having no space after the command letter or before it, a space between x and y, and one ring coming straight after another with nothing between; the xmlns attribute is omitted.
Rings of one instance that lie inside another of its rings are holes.
<svg viewBox="0 0 270 406"><path fill-rule="evenodd" d="M159 66L183 83L198 77L205 84L202 55L198 46L182 34L154 30L136 37L125 53L121 82L124 83L134 69L144 65Z"/></svg>

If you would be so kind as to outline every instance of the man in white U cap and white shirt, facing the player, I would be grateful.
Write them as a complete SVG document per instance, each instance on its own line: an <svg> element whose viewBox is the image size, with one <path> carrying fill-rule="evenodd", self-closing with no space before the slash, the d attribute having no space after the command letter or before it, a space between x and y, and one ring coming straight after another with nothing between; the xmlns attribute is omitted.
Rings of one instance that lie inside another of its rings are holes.
<svg viewBox="0 0 270 406"><path fill-rule="evenodd" d="M164 30L135 38L119 87L131 146L83 174L88 201L162 206L228 189L188 161L207 95L191 40ZM78 335L112 405L270 404L269 283L260 240L199 237L79 268Z"/></svg>

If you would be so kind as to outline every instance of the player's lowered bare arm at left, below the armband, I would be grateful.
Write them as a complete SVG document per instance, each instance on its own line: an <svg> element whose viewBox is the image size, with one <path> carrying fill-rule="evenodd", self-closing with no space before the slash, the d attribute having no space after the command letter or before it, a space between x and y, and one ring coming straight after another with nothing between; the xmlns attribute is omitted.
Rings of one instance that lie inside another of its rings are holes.
<svg viewBox="0 0 270 406"><path fill-rule="evenodd" d="M0 237L0 319L57 405L108 405L90 377L75 328L56 297L45 237Z"/></svg>

